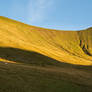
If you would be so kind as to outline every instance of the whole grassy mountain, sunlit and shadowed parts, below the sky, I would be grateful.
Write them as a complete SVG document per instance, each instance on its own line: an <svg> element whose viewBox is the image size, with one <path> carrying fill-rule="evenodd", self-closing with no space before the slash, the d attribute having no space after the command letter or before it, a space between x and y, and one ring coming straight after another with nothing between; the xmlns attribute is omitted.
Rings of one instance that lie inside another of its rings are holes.
<svg viewBox="0 0 92 92"><path fill-rule="evenodd" d="M91 34L0 17L0 92L92 92Z"/></svg>

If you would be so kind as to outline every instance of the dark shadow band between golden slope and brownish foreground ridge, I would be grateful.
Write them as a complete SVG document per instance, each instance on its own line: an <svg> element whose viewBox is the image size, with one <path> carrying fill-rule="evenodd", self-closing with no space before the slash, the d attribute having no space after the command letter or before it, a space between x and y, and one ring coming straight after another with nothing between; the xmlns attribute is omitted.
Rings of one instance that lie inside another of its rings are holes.
<svg viewBox="0 0 92 92"><path fill-rule="evenodd" d="M48 56L39 54L37 52L12 47L0 47L0 58L14 62L40 65L40 66L59 66L59 67L75 67L75 68L89 67L89 66L78 66L63 63Z"/></svg>

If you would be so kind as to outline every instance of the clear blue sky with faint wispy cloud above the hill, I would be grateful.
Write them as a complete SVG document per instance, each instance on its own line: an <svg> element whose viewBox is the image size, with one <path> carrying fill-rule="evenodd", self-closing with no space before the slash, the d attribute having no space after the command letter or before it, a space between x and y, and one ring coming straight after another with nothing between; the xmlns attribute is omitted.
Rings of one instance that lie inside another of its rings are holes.
<svg viewBox="0 0 92 92"><path fill-rule="evenodd" d="M92 0L0 0L0 16L59 30L92 27Z"/></svg>

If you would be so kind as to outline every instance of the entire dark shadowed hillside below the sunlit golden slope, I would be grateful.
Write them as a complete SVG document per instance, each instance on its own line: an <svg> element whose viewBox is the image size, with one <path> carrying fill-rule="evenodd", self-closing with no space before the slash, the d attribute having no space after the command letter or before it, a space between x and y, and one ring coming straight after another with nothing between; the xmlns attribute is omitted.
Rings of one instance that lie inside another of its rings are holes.
<svg viewBox="0 0 92 92"><path fill-rule="evenodd" d="M0 47L0 58L16 62L0 62L1 92L92 91L91 66L60 63L36 52L10 47Z"/></svg>

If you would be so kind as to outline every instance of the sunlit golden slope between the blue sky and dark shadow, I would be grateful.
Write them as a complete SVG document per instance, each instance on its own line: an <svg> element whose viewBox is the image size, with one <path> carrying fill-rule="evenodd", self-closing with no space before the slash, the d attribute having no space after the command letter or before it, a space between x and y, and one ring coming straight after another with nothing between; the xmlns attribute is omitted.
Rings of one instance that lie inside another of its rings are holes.
<svg viewBox="0 0 92 92"><path fill-rule="evenodd" d="M92 65L92 28L58 31L0 17L0 46L34 51L60 62Z"/></svg>

